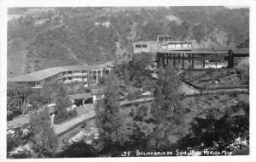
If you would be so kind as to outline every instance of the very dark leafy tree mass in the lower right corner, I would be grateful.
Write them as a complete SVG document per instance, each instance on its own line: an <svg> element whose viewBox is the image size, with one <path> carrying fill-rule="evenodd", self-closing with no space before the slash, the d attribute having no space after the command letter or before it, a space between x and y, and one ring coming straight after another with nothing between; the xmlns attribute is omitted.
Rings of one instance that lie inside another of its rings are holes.
<svg viewBox="0 0 256 162"><path fill-rule="evenodd" d="M231 151L232 143L236 138L249 139L249 104L238 103L236 106L225 110L224 115L216 109L207 112L206 118L196 117L191 122L189 134L179 140L181 149L192 148L194 150L212 149L214 151ZM243 111L244 115L236 115Z"/></svg>

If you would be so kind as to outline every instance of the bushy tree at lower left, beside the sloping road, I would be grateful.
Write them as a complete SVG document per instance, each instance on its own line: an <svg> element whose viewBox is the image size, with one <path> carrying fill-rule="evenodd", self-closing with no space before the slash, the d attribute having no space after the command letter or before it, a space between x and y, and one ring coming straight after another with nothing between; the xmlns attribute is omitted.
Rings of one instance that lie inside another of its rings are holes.
<svg viewBox="0 0 256 162"><path fill-rule="evenodd" d="M58 140L50 124L48 109L33 113L30 116L30 124L33 134L32 156L36 158L52 157L58 146Z"/></svg>

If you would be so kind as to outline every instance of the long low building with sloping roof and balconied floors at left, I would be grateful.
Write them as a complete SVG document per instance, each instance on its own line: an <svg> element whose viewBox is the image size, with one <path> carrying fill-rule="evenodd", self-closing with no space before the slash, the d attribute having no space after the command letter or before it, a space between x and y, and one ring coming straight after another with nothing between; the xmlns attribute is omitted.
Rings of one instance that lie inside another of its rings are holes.
<svg viewBox="0 0 256 162"><path fill-rule="evenodd" d="M20 75L9 81L26 84L33 88L41 88L44 83L53 81L59 81L64 84L73 81L84 81L84 86L88 87L96 84L102 75L108 75L112 69L113 62L96 65L62 66Z"/></svg>

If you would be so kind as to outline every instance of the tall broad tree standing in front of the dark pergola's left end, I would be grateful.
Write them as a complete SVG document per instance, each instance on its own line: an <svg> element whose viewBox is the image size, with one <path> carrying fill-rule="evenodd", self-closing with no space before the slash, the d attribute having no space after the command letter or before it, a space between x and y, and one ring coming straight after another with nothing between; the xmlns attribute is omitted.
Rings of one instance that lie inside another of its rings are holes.
<svg viewBox="0 0 256 162"><path fill-rule="evenodd" d="M154 103L151 113L154 116L154 133L151 138L155 140L156 149L165 148L168 144L176 142L183 135L183 113L179 103L178 88L181 81L172 66L162 67L157 71L158 79L154 85Z"/></svg>

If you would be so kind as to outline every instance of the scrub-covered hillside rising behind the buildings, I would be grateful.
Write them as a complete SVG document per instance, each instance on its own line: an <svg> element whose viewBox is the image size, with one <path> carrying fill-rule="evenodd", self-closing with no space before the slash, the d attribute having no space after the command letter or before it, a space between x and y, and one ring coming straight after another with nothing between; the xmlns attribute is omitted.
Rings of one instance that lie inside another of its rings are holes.
<svg viewBox="0 0 256 162"><path fill-rule="evenodd" d="M170 34L194 47L249 38L249 9L224 7L9 8L8 77L128 58L132 42Z"/></svg>

